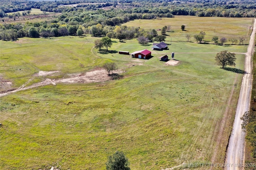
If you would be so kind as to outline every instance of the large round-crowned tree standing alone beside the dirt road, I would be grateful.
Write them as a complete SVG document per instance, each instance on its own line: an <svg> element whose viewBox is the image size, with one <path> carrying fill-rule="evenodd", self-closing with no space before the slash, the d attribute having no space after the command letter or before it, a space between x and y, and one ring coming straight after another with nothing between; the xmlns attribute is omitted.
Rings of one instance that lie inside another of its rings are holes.
<svg viewBox="0 0 256 170"><path fill-rule="evenodd" d="M224 68L225 66L236 66L236 57L235 53L230 53L228 51L220 51L220 53L217 53L215 57L215 61L217 65L222 66Z"/></svg>

